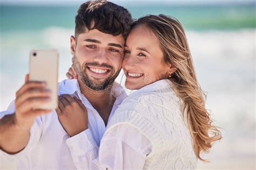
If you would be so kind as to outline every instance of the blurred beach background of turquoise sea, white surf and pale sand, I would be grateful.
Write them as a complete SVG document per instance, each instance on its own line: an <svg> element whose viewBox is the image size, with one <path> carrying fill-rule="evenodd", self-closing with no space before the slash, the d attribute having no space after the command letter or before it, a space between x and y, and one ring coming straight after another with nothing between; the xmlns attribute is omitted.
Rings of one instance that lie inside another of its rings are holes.
<svg viewBox="0 0 256 170"><path fill-rule="evenodd" d="M59 81L66 79L70 36L83 2L0 1L0 111L24 83L31 49L58 49ZM133 18L163 13L183 24L207 109L223 134L204 156L211 162L199 161L198 169L255 169L255 1L112 2ZM122 75L117 82L124 84Z"/></svg>

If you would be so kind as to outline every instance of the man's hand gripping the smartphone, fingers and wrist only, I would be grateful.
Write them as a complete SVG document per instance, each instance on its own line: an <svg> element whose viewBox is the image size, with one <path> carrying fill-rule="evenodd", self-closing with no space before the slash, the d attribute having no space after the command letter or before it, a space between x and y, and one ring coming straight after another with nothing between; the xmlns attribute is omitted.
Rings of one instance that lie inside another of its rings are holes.
<svg viewBox="0 0 256 170"><path fill-rule="evenodd" d="M25 84L16 93L14 121L17 128L29 130L37 116L51 112L33 109L51 101L51 91L45 87L45 82L29 81L26 75Z"/></svg>

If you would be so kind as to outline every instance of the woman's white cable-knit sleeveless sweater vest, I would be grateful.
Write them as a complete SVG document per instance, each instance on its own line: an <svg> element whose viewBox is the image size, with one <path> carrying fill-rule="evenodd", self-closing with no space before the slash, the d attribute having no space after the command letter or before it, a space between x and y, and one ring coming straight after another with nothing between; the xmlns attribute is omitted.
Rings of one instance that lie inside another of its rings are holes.
<svg viewBox="0 0 256 170"><path fill-rule="evenodd" d="M144 169L195 169L192 138L183 121L181 104L169 80L154 82L128 96L107 125L137 128L152 143Z"/></svg>

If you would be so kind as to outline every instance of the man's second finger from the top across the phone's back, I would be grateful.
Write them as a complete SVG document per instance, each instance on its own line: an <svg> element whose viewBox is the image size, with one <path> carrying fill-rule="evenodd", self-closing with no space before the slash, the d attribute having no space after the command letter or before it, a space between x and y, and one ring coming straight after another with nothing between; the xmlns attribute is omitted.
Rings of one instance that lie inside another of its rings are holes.
<svg viewBox="0 0 256 170"><path fill-rule="evenodd" d="M20 95L16 100L16 107L29 98L35 97L51 97L51 91L43 88L34 88L26 90L22 95Z"/></svg>

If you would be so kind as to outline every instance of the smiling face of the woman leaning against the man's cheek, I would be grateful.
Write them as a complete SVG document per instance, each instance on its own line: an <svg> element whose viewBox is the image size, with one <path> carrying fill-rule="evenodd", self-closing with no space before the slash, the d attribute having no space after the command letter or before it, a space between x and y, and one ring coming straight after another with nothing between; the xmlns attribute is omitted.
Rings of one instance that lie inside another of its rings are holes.
<svg viewBox="0 0 256 170"><path fill-rule="evenodd" d="M136 90L167 77L171 65L164 62L158 39L147 26L139 25L127 37L122 67L125 87Z"/></svg>

